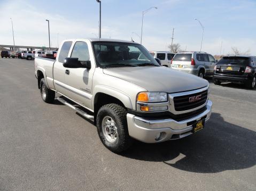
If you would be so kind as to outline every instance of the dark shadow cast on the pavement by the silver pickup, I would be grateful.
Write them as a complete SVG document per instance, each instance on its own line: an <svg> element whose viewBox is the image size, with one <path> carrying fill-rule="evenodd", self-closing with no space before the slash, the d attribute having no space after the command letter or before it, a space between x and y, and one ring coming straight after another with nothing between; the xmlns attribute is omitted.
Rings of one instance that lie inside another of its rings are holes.
<svg viewBox="0 0 256 191"><path fill-rule="evenodd" d="M219 113L204 130L184 139L159 144L135 144L122 156L164 162L184 171L213 173L250 168L256 164L256 132L223 120Z"/></svg>

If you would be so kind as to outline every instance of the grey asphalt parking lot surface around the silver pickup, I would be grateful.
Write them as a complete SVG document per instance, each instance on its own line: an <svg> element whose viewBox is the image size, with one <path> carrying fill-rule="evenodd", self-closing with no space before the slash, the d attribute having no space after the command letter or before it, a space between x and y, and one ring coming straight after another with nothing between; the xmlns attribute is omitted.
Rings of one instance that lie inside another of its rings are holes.
<svg viewBox="0 0 256 191"><path fill-rule="evenodd" d="M117 155L96 127L42 101L34 61L0 59L0 190L256 190L256 90L215 86L204 130Z"/></svg>

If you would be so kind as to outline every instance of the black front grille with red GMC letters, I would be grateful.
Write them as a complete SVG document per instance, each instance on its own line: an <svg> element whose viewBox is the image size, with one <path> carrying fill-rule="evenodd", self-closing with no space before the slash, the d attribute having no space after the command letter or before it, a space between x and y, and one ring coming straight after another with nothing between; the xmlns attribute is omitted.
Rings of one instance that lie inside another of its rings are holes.
<svg viewBox="0 0 256 191"><path fill-rule="evenodd" d="M192 102L189 102L189 100L191 101L191 99ZM196 107L199 107L200 105L203 105L207 101L207 90L196 94L177 96L173 98L173 101L174 108L176 111L191 110Z"/></svg>

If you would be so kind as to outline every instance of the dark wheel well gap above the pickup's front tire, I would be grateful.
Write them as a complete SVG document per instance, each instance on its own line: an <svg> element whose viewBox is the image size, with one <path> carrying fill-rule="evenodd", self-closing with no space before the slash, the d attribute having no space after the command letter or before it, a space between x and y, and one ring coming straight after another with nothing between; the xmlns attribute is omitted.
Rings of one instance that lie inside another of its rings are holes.
<svg viewBox="0 0 256 191"><path fill-rule="evenodd" d="M94 119L95 119L94 122L95 123L96 123L97 113L100 107L110 103L116 103L118 105L125 107L125 105L123 105L123 103L118 98L115 98L113 96L110 96L104 93L97 93L95 95L95 98L94 98Z"/></svg>

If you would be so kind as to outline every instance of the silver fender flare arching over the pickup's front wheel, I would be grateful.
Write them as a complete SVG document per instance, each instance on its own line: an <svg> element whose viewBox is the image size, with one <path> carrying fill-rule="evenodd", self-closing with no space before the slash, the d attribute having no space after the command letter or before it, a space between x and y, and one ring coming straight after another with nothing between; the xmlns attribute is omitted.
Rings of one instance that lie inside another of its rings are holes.
<svg viewBox="0 0 256 191"><path fill-rule="evenodd" d="M112 87L108 87L105 85L96 85L93 90L93 95L91 98L93 110L94 110L94 98L97 93L104 93L104 94L113 96L113 97L119 99L123 103L123 105L125 105L126 108L133 109L133 104L131 103L130 98L125 93L121 92L118 89L114 89Z"/></svg>

